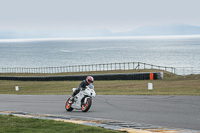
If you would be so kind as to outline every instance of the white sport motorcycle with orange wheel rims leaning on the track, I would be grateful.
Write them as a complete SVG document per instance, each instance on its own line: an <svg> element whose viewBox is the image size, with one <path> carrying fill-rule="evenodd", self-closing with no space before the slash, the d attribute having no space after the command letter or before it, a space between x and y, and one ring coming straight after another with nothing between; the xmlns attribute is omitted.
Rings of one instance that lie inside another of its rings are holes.
<svg viewBox="0 0 200 133"><path fill-rule="evenodd" d="M73 92L76 88L72 89ZM73 109L82 110L82 112L87 112L92 105L92 98L96 96L93 85L88 85L86 89L81 89L80 92L74 97L74 100L70 102L70 98L65 104L65 109L67 111L72 111Z"/></svg>

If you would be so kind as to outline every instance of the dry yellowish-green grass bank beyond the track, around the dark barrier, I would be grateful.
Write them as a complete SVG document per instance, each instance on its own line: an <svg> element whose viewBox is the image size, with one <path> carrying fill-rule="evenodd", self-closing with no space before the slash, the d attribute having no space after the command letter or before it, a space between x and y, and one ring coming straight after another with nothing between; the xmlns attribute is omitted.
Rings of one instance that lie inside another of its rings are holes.
<svg viewBox="0 0 200 133"><path fill-rule="evenodd" d="M132 73L132 72L136 72L136 70L108 71L108 72L101 71L101 72L90 72L90 73L65 73L59 75L79 75L79 74L89 75L89 74L103 74L103 73ZM7 76L8 75L12 76L10 74L7 74ZM34 75L36 76L37 74L26 74L26 75L15 74L15 76L34 76ZM47 75L43 74L43 76ZM147 84L149 82L153 83L154 89L152 91L149 91L147 89L148 88ZM71 95L72 88L77 87L79 83L80 81L0 80L0 94ZM163 80L95 81L94 85L98 95L200 95L200 75L177 76L168 72L164 72ZM16 92L15 86L19 86L20 90Z"/></svg>

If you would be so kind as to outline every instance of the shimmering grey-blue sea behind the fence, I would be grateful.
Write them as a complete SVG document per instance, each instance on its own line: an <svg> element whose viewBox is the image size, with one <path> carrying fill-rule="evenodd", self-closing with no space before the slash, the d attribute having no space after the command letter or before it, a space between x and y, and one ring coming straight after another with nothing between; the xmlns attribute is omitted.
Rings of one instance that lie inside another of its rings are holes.
<svg viewBox="0 0 200 133"><path fill-rule="evenodd" d="M143 62L200 68L200 35L0 39L0 67Z"/></svg>

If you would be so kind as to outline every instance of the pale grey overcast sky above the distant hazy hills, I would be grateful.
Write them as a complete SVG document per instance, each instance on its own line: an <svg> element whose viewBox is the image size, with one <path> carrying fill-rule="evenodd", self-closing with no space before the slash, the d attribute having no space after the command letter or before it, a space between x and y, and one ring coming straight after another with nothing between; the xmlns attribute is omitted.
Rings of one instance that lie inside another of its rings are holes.
<svg viewBox="0 0 200 133"><path fill-rule="evenodd" d="M128 31L200 25L200 0L0 0L0 31Z"/></svg>

